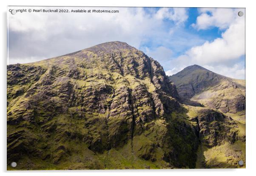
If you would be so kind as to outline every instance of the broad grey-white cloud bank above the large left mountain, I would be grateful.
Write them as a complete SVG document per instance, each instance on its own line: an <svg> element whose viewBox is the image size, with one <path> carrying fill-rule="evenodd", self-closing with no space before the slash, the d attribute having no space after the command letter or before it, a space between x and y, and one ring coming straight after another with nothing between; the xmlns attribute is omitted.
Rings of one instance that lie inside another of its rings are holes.
<svg viewBox="0 0 256 176"><path fill-rule="evenodd" d="M182 24L188 18L185 8L159 8L151 13L144 8L100 9L119 13L9 14L9 64L64 55L107 41L125 41L139 48L144 42L159 42L158 38L168 35L165 19Z"/></svg>

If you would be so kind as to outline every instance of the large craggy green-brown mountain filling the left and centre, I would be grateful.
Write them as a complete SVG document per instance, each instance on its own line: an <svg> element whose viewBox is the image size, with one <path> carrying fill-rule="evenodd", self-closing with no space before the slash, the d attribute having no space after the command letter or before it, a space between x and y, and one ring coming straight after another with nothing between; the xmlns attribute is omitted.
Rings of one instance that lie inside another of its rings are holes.
<svg viewBox="0 0 256 176"><path fill-rule="evenodd" d="M134 47L108 42L7 72L7 158L20 169L111 168L113 154L124 156L117 168L195 167L193 126L171 118L175 85Z"/></svg>

